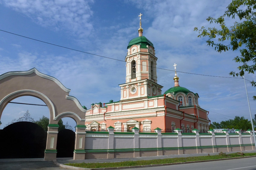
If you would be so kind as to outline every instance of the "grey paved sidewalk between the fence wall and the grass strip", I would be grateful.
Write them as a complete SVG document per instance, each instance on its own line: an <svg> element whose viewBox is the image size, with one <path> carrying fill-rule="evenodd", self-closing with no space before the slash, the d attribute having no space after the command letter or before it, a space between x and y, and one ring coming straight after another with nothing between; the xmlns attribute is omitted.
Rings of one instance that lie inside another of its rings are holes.
<svg viewBox="0 0 256 170"><path fill-rule="evenodd" d="M236 151L238 152L238 151ZM232 154L236 152L226 152L227 154ZM256 150L242 151L243 153L252 153ZM103 163L103 162L122 162L122 161L136 161L136 160L155 160L155 159L166 159L166 158L179 158L179 157L199 157L199 156L208 156L217 155L215 153L200 153L200 154L181 154L181 155L163 155L163 156L152 156L152 157L136 157L136 158L112 158L112 159L86 159L86 160L72 160L68 158L57 158L57 162L60 164L64 163Z"/></svg>

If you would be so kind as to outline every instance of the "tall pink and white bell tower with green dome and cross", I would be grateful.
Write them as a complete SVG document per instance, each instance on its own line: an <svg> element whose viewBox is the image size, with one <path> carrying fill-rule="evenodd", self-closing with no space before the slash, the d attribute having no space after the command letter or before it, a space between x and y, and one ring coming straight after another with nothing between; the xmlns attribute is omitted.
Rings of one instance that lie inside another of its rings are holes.
<svg viewBox="0 0 256 170"><path fill-rule="evenodd" d="M139 37L130 40L127 46L126 83L120 85L121 100L161 94L162 86L157 84L155 48L142 36L141 16L140 13Z"/></svg>

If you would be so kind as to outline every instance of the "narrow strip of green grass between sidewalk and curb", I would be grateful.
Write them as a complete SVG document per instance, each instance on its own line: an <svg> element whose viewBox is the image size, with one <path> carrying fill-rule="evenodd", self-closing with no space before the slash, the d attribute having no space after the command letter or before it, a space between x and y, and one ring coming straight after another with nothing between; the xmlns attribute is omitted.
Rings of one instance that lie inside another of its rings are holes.
<svg viewBox="0 0 256 170"><path fill-rule="evenodd" d="M154 165L154 164L164 164L164 163L178 163L178 162L189 162L189 161L200 161L200 160L217 160L217 159L223 159L223 158L246 157L246 156L254 156L254 155L256 155L256 153L237 152L234 154L225 154L221 152L219 155L211 155L211 156L107 162L107 163L65 163L65 165L76 166L81 168L108 168L108 167L121 167L121 166L139 166L139 165Z"/></svg>

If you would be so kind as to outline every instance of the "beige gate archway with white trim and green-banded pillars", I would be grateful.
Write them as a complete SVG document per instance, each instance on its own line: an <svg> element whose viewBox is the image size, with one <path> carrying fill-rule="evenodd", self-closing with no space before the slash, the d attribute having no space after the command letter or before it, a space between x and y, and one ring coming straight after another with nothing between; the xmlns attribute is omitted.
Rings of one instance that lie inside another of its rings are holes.
<svg viewBox="0 0 256 170"><path fill-rule="evenodd" d="M54 77L40 73L36 68L28 71L8 72L0 76L0 120L5 106L20 96L41 99L50 112L45 149L45 160L56 159L58 121L64 117L76 121L74 159L85 158L85 112L79 101L69 96L70 89L64 87Z"/></svg>

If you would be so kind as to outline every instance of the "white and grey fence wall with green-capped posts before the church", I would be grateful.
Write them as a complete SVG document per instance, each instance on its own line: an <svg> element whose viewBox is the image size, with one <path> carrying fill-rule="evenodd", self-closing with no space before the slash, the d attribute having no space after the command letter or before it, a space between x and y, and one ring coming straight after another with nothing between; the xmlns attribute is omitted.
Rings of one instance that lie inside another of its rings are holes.
<svg viewBox="0 0 256 170"><path fill-rule="evenodd" d="M107 131L86 131L85 159L143 157L170 154L192 154L209 152L230 152L255 149L252 132L247 133L199 133L194 129L192 133L181 133L177 128L175 133L139 132L134 127L132 132L114 131L113 127Z"/></svg>

